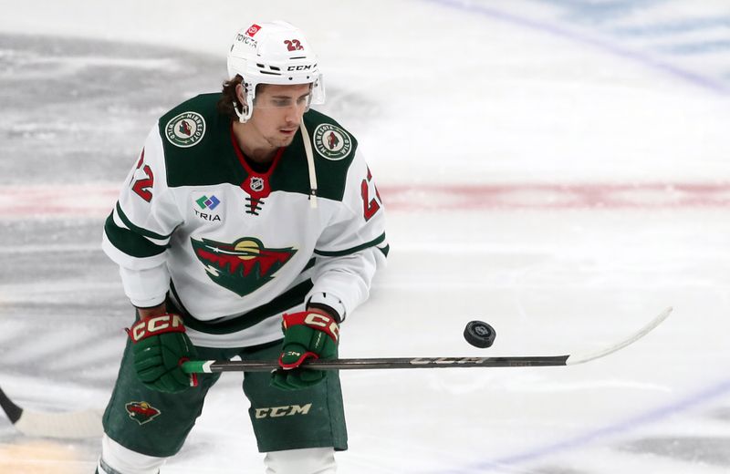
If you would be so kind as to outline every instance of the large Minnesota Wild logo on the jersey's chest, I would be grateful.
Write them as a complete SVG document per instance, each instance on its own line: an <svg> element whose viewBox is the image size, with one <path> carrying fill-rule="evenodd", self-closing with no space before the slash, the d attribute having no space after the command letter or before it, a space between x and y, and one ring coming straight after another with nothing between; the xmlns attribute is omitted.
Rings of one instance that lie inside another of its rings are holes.
<svg viewBox="0 0 730 474"><path fill-rule="evenodd" d="M267 249L254 237L233 243L193 238L190 242L211 280L239 296L254 293L271 281L274 273L297 253L294 247Z"/></svg>

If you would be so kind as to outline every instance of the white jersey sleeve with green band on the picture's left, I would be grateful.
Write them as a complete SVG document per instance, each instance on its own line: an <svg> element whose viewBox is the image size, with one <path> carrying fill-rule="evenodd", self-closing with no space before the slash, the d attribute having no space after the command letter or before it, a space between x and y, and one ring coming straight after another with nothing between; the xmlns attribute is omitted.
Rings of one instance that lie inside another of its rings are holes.
<svg viewBox="0 0 730 474"><path fill-rule="evenodd" d="M124 291L132 304L153 306L164 300L170 285L166 250L182 222L167 187L162 139L155 126L107 218L101 244L120 265Z"/></svg>

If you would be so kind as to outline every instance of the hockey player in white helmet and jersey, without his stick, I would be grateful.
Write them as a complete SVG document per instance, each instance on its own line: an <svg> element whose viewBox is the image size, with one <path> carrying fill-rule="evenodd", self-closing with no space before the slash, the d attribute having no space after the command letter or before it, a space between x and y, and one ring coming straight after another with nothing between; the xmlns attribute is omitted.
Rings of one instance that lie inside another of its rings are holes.
<svg viewBox="0 0 730 474"><path fill-rule="evenodd" d="M187 359L279 360L243 384L266 473L332 473L347 448L338 374L300 365L336 356L368 297L382 202L357 140L309 109L325 91L299 29L245 27L228 74L159 119L104 227L136 320L99 474L155 474L183 446L218 378Z"/></svg>

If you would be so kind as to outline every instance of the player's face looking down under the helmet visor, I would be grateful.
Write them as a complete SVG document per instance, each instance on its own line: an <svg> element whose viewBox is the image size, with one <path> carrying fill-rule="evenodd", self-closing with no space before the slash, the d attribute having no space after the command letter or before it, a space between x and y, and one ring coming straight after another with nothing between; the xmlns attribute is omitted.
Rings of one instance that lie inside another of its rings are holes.
<svg viewBox="0 0 730 474"><path fill-rule="evenodd" d="M297 134L309 94L309 84L259 88L249 123L272 147L286 147Z"/></svg>

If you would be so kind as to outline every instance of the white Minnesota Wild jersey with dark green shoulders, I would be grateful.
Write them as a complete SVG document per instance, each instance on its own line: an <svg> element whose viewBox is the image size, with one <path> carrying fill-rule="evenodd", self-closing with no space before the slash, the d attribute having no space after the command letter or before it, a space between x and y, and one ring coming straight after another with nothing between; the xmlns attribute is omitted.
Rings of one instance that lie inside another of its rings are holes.
<svg viewBox="0 0 730 474"><path fill-rule="evenodd" d="M367 299L389 250L357 140L331 118L305 114L313 207L301 130L256 172L216 110L219 98L204 94L162 116L124 183L102 248L120 265L125 293L140 307L169 295L193 343L213 347L280 338L280 315L310 298L344 318Z"/></svg>

